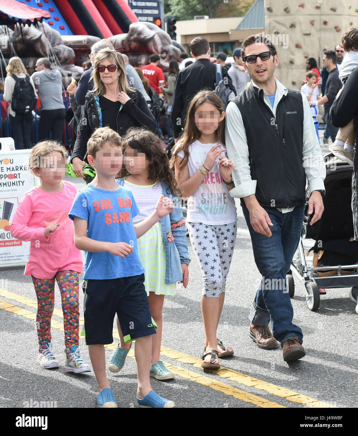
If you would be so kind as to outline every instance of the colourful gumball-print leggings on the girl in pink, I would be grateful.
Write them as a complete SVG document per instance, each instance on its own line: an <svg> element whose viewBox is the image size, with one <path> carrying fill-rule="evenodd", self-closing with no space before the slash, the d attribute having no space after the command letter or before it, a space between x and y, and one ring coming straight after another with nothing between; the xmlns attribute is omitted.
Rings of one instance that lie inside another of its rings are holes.
<svg viewBox="0 0 358 436"><path fill-rule="evenodd" d="M55 279L61 291L65 347L78 345L79 329L79 278L75 271L58 271L52 279L37 279L31 276L38 299L36 329L39 348L51 342L51 317L55 304Z"/></svg>

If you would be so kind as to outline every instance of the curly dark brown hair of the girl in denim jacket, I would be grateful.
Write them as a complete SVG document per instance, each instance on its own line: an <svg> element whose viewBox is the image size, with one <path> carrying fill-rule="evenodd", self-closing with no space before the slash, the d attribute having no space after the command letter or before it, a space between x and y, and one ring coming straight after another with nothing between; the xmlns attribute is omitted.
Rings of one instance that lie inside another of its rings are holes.
<svg viewBox="0 0 358 436"><path fill-rule="evenodd" d="M167 153L165 153L160 139L155 133L141 127L132 127L122 138L123 154L126 146L145 153L147 159L151 162L149 166L149 180L162 180L168 185L173 195L181 195L181 190L177 185L174 173L170 170ZM125 165L123 165L116 178L126 177L129 174ZM167 192L167 194L170 193Z"/></svg>

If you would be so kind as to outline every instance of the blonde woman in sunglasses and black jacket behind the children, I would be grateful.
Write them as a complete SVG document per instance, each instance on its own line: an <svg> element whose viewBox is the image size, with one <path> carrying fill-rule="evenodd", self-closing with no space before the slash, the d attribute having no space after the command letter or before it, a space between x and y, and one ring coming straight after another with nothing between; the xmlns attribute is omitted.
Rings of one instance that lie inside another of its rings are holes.
<svg viewBox="0 0 358 436"><path fill-rule="evenodd" d="M123 136L130 127L144 126L155 132L157 123L142 93L131 88L123 57L111 48L103 48L93 65L94 88L86 95L85 109L79 124L72 153L73 170L84 177L82 168L87 141L98 127L109 126Z"/></svg>

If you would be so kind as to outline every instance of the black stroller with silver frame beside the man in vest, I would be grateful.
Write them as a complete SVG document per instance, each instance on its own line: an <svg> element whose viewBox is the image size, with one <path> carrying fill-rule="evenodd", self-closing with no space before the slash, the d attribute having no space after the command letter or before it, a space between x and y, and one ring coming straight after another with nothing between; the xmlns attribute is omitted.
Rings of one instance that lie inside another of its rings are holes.
<svg viewBox="0 0 358 436"><path fill-rule="evenodd" d="M358 242L353 241L353 216L351 211L351 179L353 168L327 154L326 195L323 198L324 212L319 221L309 225L310 217L305 215L297 258L292 261L286 275L288 294L295 292L293 274L306 288L306 303L309 310L317 310L320 295L327 288L344 288L358 284ZM306 198L309 196L307 189ZM314 252L312 266L307 266L303 239L314 239L310 251Z"/></svg>

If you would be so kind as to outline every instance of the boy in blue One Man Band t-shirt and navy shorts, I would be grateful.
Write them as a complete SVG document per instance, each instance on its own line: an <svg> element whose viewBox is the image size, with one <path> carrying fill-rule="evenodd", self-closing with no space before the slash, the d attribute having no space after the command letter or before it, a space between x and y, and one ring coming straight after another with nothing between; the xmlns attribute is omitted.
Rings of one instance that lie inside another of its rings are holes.
<svg viewBox="0 0 358 436"><path fill-rule="evenodd" d="M136 339L137 401L140 407L174 407L150 387L151 337L155 334L144 287L144 269L137 238L174 208L162 194L153 213L133 225L139 210L132 192L119 187L115 176L122 166L122 142L109 127L96 129L87 144L89 164L96 170L92 183L79 191L69 212L74 239L85 251L84 279L86 344L97 379L99 407L117 407L106 377L104 344L113 342L117 313L126 342Z"/></svg>

